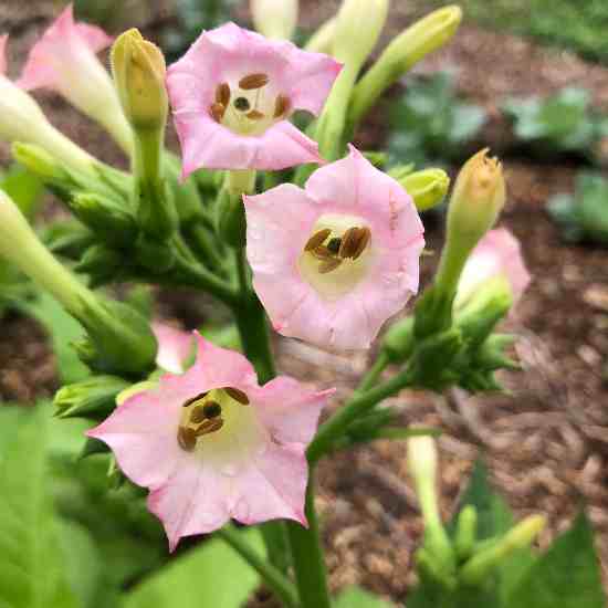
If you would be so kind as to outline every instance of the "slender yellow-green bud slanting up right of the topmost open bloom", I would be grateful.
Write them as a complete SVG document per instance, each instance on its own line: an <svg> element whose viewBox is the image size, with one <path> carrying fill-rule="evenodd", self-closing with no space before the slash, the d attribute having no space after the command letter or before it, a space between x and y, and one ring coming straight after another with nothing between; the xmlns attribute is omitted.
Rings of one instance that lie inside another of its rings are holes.
<svg viewBox="0 0 608 608"><path fill-rule="evenodd" d="M384 91L426 55L443 46L454 35L461 20L460 7L444 7L398 35L355 87L350 120L357 124Z"/></svg>

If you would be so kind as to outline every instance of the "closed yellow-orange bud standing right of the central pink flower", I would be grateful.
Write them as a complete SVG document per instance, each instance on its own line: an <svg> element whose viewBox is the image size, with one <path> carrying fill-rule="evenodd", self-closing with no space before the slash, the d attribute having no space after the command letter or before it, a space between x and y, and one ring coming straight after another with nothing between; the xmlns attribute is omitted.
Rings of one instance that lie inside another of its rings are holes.
<svg viewBox="0 0 608 608"><path fill-rule="evenodd" d="M469 254L494 226L505 200L502 165L483 149L462 167L450 200L447 243L436 280L444 294L455 294Z"/></svg>

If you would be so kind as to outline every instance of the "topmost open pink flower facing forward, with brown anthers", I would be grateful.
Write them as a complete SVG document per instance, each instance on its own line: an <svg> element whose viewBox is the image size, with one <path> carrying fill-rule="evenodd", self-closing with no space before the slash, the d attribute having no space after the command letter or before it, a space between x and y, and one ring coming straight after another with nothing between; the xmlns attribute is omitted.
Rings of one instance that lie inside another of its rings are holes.
<svg viewBox="0 0 608 608"><path fill-rule="evenodd" d="M340 70L332 57L266 40L234 23L203 32L168 70L184 177L208 169L284 169L319 163L289 117L318 114Z"/></svg>

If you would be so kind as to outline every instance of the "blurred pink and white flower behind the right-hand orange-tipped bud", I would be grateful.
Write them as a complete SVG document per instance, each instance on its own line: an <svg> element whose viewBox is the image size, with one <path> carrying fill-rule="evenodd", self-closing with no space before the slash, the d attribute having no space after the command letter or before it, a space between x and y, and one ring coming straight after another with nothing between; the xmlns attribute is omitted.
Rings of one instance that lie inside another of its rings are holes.
<svg viewBox="0 0 608 608"><path fill-rule="evenodd" d="M488 232L467 260L458 283L454 306L465 304L483 283L499 276L509 282L515 303L531 281L520 241L505 228Z"/></svg>

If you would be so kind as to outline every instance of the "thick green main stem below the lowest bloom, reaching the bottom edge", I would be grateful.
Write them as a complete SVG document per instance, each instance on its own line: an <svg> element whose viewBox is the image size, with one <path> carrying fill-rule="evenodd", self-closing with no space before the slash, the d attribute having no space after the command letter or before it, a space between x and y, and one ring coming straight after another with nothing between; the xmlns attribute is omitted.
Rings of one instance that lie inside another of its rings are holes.
<svg viewBox="0 0 608 608"><path fill-rule="evenodd" d="M305 506L308 528L296 522L287 522L287 534L302 606L331 608L325 558L314 504L314 467L311 465Z"/></svg>

